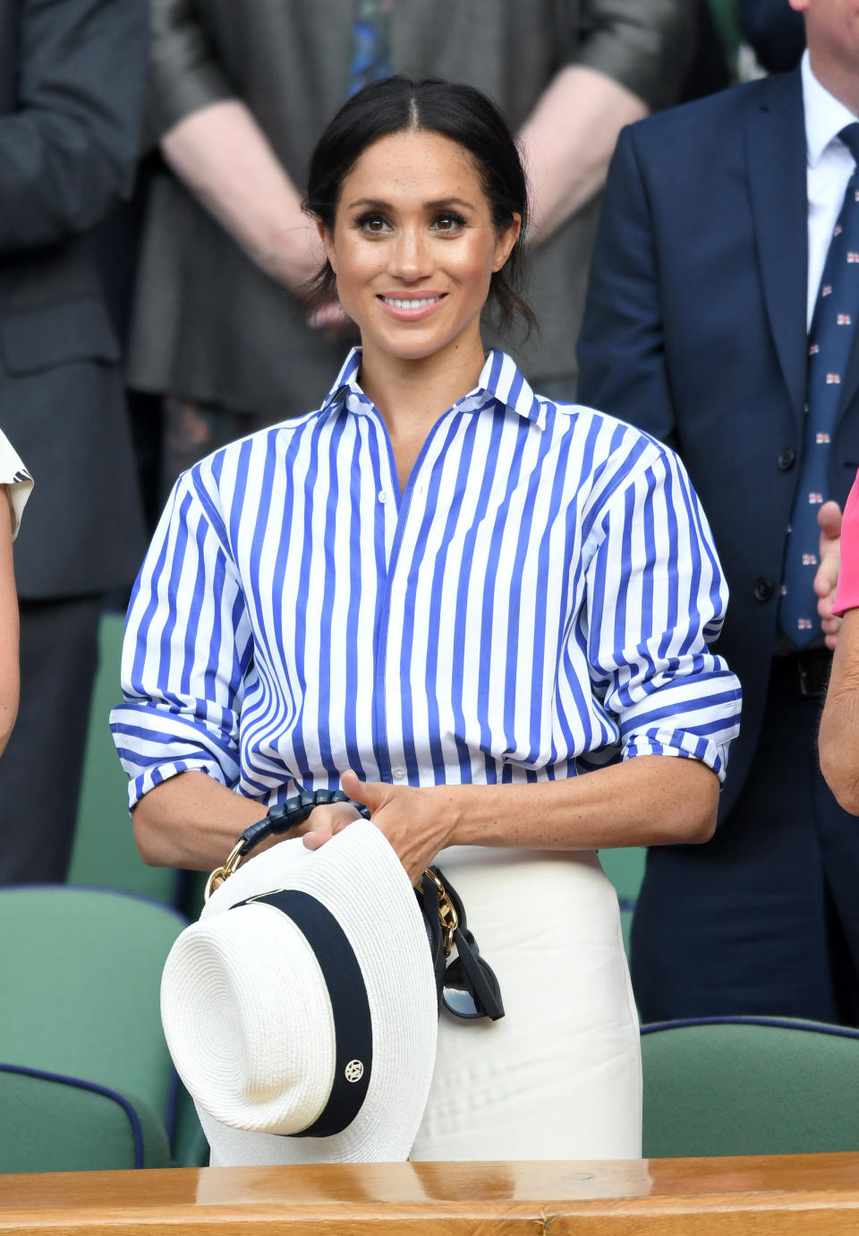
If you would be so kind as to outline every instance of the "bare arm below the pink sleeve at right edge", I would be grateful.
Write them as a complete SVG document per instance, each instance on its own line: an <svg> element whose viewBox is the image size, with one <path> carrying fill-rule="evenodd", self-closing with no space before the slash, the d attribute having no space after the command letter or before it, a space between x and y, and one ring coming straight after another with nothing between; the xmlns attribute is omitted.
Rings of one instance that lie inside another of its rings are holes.
<svg viewBox="0 0 859 1236"><path fill-rule="evenodd" d="M844 614L818 747L826 784L844 811L859 816L859 609Z"/></svg>

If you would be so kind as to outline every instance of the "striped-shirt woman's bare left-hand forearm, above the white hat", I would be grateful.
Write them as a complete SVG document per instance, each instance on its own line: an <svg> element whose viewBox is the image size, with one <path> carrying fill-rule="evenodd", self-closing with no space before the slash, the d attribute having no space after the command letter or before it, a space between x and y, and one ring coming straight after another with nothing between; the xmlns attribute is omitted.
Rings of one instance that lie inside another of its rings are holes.
<svg viewBox="0 0 859 1236"><path fill-rule="evenodd" d="M263 819L267 810L205 772L180 772L137 803L135 840L151 866L211 871L223 863L238 834Z"/></svg>

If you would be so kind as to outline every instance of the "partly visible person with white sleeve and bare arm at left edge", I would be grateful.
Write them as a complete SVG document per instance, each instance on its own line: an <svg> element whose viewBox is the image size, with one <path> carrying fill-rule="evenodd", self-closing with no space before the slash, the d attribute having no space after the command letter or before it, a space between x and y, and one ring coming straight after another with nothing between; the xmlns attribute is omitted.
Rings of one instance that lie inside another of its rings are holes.
<svg viewBox="0 0 859 1236"><path fill-rule="evenodd" d="M32 478L0 431L0 751L9 742L19 703L19 611L12 541L17 536Z"/></svg>

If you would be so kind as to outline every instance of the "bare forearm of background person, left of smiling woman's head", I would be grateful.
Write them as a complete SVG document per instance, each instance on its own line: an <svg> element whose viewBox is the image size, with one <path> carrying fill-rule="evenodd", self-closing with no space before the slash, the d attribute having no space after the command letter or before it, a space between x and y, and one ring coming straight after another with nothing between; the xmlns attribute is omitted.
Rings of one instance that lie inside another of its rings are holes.
<svg viewBox="0 0 859 1236"><path fill-rule="evenodd" d="M214 103L162 138L176 176L272 278L299 288L322 248L301 197L247 106Z"/></svg>

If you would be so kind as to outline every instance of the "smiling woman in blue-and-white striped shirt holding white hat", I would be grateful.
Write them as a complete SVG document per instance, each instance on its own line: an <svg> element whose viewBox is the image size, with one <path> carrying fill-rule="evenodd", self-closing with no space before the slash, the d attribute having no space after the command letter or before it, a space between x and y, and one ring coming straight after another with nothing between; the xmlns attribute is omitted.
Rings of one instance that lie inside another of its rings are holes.
<svg viewBox="0 0 859 1236"><path fill-rule="evenodd" d="M215 866L260 803L342 780L412 880L441 854L504 994L497 1023L443 1018L412 1157L637 1156L638 1027L595 850L712 833L739 688L706 649L706 523L670 451L484 355L488 298L523 308L526 189L483 95L367 88L309 185L320 290L336 281L362 350L317 412L174 491L112 717L141 853ZM305 843L352 818L317 808Z"/></svg>

